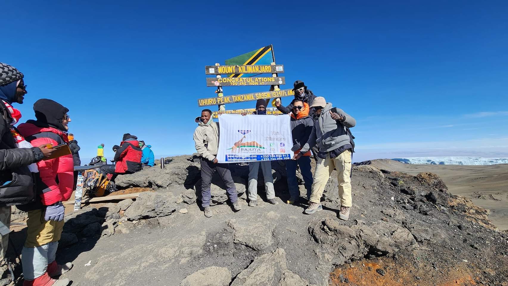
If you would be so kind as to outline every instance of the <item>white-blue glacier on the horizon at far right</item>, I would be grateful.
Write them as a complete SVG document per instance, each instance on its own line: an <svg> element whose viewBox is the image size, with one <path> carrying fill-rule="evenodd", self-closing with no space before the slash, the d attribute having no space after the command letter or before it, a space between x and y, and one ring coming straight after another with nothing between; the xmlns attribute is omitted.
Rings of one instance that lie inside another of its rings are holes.
<svg viewBox="0 0 508 286"><path fill-rule="evenodd" d="M484 157L408 157L393 158L392 160L405 164L431 164L431 165L496 165L508 164L508 158L484 158Z"/></svg>

